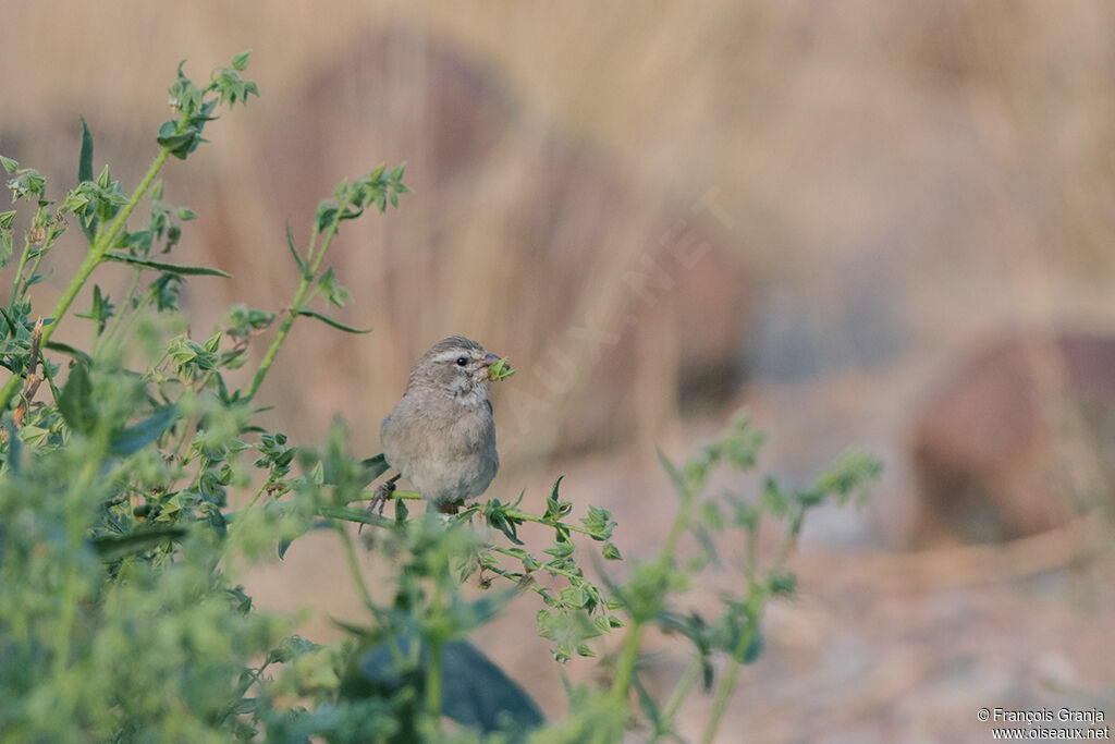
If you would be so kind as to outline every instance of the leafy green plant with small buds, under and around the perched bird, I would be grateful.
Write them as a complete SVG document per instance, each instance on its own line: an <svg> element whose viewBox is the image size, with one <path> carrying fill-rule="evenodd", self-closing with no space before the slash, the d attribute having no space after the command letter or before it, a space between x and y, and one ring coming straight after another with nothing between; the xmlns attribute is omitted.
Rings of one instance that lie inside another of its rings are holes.
<svg viewBox="0 0 1115 744"><path fill-rule="evenodd" d="M785 491L767 481L757 500L709 499L718 468L747 470L762 437L737 419L683 466L663 466L680 496L657 559L636 562L624 580L593 580L584 545L621 561L611 514L573 505L554 484L534 514L497 499L459 514L411 516L417 494L396 492L394 518L368 513L369 485L382 456L348 452L342 424L320 447L295 446L256 423L254 398L300 317L340 331L363 332L311 308L342 306L349 293L324 264L345 221L368 207L385 212L408 193L404 166L378 167L342 182L318 207L300 249L288 226L298 284L246 389L226 380L248 360L251 340L280 313L236 305L207 338L192 338L177 307L182 283L220 277L205 267L162 259L193 212L163 201L157 174L168 156L186 158L204 139L217 106L246 103L256 87L241 77L249 55L197 86L180 67L171 86L176 118L156 138L159 149L127 194L107 166L94 177L93 137L83 122L78 183L61 204L47 196L37 171L0 158L17 201L32 207L0 308L0 734L6 741L269 741L331 742L617 741L632 725L632 697L655 738L676 735L682 702L698 680L711 687L710 659L728 663L715 687L710 740L740 664L762 649L766 602L792 593L785 561L805 513L828 499L861 492L879 464L852 455L812 489ZM140 204L149 216L128 225ZM0 213L0 261L12 257L16 212ZM32 312L31 288L42 260L74 222L85 259L47 319ZM155 252L161 248L159 252ZM159 258L154 258L158 255ZM89 341L52 339L83 288L106 262L130 268L114 302L94 284ZM146 280L146 284L144 281ZM66 370L64 371L64 364ZM502 363L495 378L513 370ZM46 392L40 396L40 387ZM241 494L230 497L231 494ZM251 494L251 495L249 495ZM239 510L230 504L244 504ZM780 548L760 562L758 535L783 524ZM368 549L390 567L389 596L375 598L361 576L351 523L371 525ZM526 523L552 539L521 539ZM292 635L289 618L260 612L235 577L250 562L281 559L313 529L336 533L353 591L368 622L345 626L348 640L323 646ZM739 530L748 544L744 590L725 597L720 617L678 608L698 572L717 563L716 534ZM699 552L680 553L696 535ZM765 568L763 568L765 566ZM546 723L534 703L479 649L469 634L511 601L539 602L537 632L559 661L589 657L617 636L603 663L605 690L570 687L576 713ZM648 627L686 637L692 663L662 704L640 684L640 644ZM457 722L443 728L443 718Z"/></svg>

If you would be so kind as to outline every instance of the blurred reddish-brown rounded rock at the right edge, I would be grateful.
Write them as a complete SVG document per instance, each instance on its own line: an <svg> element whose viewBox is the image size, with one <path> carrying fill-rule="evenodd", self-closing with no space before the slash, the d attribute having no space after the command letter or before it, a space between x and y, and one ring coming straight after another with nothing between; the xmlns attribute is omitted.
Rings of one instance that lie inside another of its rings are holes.
<svg viewBox="0 0 1115 744"><path fill-rule="evenodd" d="M918 544L1063 525L1115 475L1115 338L1000 337L927 400L912 457Z"/></svg>

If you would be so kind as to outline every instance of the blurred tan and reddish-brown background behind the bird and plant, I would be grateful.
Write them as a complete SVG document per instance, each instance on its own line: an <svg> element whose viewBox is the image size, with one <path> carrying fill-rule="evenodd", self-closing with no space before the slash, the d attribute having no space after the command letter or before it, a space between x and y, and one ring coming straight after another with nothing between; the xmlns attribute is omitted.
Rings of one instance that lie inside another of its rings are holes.
<svg viewBox="0 0 1115 744"><path fill-rule="evenodd" d="M234 274L184 290L195 337L232 302L289 302L285 220L303 242L340 178L408 162L416 193L348 223L329 259L357 298L341 319L375 332L299 322L261 393L295 442L340 414L353 452L379 452L410 365L463 334L520 369L494 392L489 495L539 505L565 473L579 508L614 512L629 558L673 512L655 446L680 460L740 407L768 433L760 471L792 485L849 446L883 458L866 508L807 524L801 598L770 610L723 741L985 741L981 706L1115 716L1111 4L0 0L0 152L57 196L79 115L96 168L130 187L178 61L196 79L254 48L262 98L164 171L166 201L200 214L175 260ZM39 307L79 259L67 240ZM119 294L125 273L98 281ZM360 618L339 561L310 535L244 580L263 607L313 608L303 635L332 640L330 618ZM481 641L560 716L535 610ZM647 677L668 690L685 657L652 646Z"/></svg>

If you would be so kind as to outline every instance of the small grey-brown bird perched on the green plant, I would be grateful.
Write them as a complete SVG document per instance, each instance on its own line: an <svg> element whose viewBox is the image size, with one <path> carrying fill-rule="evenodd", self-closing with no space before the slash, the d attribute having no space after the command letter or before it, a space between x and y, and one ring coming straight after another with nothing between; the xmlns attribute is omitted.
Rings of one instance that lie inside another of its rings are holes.
<svg viewBox="0 0 1115 744"><path fill-rule="evenodd" d="M438 341L379 426L387 464L440 511L484 493L500 468L487 399L488 367L498 359L463 336ZM377 495L386 497L397 479Z"/></svg>

